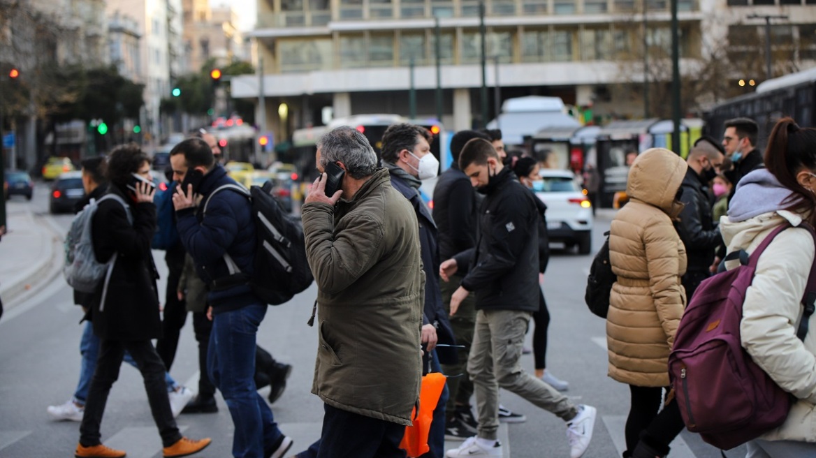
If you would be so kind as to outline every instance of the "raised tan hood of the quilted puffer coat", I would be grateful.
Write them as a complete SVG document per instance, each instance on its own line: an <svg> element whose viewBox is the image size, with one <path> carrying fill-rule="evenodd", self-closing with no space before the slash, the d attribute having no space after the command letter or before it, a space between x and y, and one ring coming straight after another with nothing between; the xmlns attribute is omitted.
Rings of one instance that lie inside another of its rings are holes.
<svg viewBox="0 0 816 458"><path fill-rule="evenodd" d="M665 148L647 149L637 156L629 170L626 193L633 199L662 209L674 218L683 209L682 204L674 198L688 168L681 156Z"/></svg>

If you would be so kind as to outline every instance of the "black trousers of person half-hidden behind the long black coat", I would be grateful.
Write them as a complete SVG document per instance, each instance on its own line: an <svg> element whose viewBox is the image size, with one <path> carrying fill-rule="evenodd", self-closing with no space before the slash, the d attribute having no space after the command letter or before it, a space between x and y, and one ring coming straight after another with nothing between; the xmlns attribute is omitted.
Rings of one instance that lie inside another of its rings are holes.
<svg viewBox="0 0 816 458"><path fill-rule="evenodd" d="M179 348L179 335L187 320L187 306L179 300L178 289L181 272L184 271L184 246L175 244L167 250L164 260L167 262L167 290L162 313L162 338L156 342L156 351L169 371L175 359L175 350Z"/></svg>

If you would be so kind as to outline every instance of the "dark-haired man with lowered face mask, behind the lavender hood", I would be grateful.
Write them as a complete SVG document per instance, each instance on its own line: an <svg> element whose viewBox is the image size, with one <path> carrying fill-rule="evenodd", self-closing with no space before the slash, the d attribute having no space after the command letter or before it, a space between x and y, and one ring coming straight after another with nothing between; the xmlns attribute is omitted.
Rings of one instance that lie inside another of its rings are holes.
<svg viewBox="0 0 816 458"><path fill-rule="evenodd" d="M758 134L759 126L750 118L737 117L725 121L722 146L725 148L725 156L734 162L734 169L724 172L725 177L734 184L728 196L729 202L734 197L739 180L754 170L765 168L762 153L755 146Z"/></svg>

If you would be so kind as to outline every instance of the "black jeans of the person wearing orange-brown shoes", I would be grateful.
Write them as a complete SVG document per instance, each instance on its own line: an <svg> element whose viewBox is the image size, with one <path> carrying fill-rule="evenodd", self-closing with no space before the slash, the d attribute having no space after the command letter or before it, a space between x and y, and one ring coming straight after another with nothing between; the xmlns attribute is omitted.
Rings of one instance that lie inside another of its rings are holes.
<svg viewBox="0 0 816 458"><path fill-rule="evenodd" d="M84 447L93 447L101 443L100 425L104 414L105 403L113 382L119 377L119 368L125 357L125 350L139 366L144 379L144 390L148 394L150 412L156 422L164 447L170 447L181 438L175 425L173 412L170 410L170 399L167 398L167 385L164 381L164 364L158 357L150 341L100 341L100 355L96 360L96 372L91 380L91 390L85 403L85 415L79 426L79 443Z"/></svg>

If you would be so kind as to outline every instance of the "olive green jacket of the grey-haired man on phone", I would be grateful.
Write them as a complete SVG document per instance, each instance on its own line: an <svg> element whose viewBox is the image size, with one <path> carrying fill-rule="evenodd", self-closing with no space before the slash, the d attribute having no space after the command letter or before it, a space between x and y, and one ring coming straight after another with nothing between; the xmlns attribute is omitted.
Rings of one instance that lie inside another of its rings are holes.
<svg viewBox="0 0 816 458"><path fill-rule="evenodd" d="M425 283L414 209L381 168L352 200L304 205L303 225L318 288L312 392L332 407L410 425Z"/></svg>

